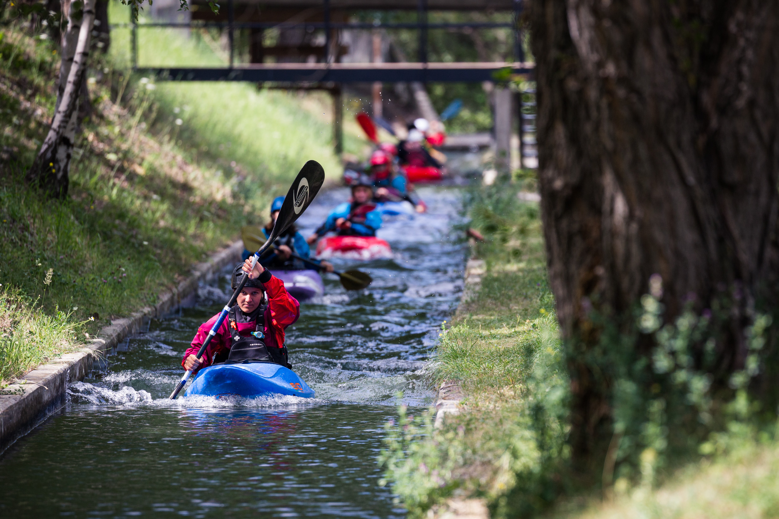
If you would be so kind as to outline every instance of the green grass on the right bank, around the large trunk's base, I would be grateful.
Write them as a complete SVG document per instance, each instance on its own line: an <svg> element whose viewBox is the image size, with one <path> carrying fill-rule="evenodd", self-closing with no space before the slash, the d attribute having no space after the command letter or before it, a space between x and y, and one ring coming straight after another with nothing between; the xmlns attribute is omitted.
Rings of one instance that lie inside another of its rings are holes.
<svg viewBox="0 0 779 519"><path fill-rule="evenodd" d="M605 496L573 472L569 378L538 206L516 199L523 184L471 191L471 225L485 235L478 255L488 272L455 321L442 326L432 364L433 384L462 387L463 412L435 430L431 412L411 417L400 409L398 423L386 426L383 483L410 517L446 517L452 498L483 499L493 518L779 516L777 430L738 413L749 407L746 397L731 404L726 430L664 466L642 453L641 473L615 475Z"/></svg>

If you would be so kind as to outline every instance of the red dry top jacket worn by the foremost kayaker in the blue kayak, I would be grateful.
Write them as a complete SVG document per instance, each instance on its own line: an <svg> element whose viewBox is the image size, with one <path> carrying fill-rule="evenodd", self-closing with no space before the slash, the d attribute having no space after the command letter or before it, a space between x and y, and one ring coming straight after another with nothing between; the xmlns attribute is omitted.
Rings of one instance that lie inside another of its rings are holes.
<svg viewBox="0 0 779 519"><path fill-rule="evenodd" d="M263 283L263 287L268 299L268 307L265 309L265 330L263 331L265 338L263 342L269 348L280 348L284 345L284 328L293 324L294 321L298 321L298 317L300 317L300 303L287 292L287 289L284 288L284 282L274 275L270 276L268 282ZM213 324L217 322L217 317L219 317L219 314L214 315L200 325L195 338L192 339L192 345L184 353L182 367L184 367L184 361L188 356L197 355L200 346L203 345L203 341L208 336L208 332L213 327ZM219 331L217 331L217 335L214 335L213 339L211 339L206 352L203 353L203 363L200 364L198 369L210 366L213 356L217 352L230 349L231 338L227 328L229 326L228 321L228 319L224 320ZM237 324L238 333L242 337L249 337L249 334L256 328L255 321Z"/></svg>

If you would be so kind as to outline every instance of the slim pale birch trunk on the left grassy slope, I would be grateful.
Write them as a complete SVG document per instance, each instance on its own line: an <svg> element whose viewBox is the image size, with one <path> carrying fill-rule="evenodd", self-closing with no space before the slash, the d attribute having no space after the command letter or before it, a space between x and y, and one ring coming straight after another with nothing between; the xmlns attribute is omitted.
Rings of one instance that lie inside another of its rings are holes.
<svg viewBox="0 0 779 519"><path fill-rule="evenodd" d="M27 181L35 184L52 196L65 197L68 193L70 159L78 126L79 93L86 74L86 61L89 58L90 36L95 19L95 0L85 0L80 19L78 38L72 45L78 14L69 5L68 30L65 32L65 46L62 49L62 65L58 99L54 119L51 121L48 135L41 145L41 151L27 172ZM63 12L65 12L63 5ZM72 30L73 28L73 30ZM68 59L71 55L72 61ZM65 72L67 72L65 74ZM63 85L63 78L67 78Z"/></svg>

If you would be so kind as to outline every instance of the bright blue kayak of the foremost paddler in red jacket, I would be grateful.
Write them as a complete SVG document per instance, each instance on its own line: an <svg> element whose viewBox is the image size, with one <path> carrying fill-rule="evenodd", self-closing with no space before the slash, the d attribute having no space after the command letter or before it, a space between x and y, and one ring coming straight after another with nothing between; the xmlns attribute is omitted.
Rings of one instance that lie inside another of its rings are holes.
<svg viewBox="0 0 779 519"><path fill-rule="evenodd" d="M273 363L217 364L199 370L184 396L294 395L313 398L314 390L301 377Z"/></svg>

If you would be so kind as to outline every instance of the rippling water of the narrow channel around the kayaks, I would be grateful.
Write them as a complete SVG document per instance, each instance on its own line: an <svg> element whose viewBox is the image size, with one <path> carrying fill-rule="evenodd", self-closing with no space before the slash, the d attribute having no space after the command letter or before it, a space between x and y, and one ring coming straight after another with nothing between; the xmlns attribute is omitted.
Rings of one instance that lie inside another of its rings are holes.
<svg viewBox="0 0 779 519"><path fill-rule="evenodd" d="M152 321L71 384L66 408L2 454L0 517L404 517L377 483L383 424L399 391L411 412L432 403L425 360L465 261L452 229L459 195L420 192L428 214L379 231L394 258L358 264L372 286L347 293L326 276L326 296L301 304L287 329L315 399L166 399L196 328L227 300L221 276L195 307ZM346 196L319 195L298 222L304 234Z"/></svg>

